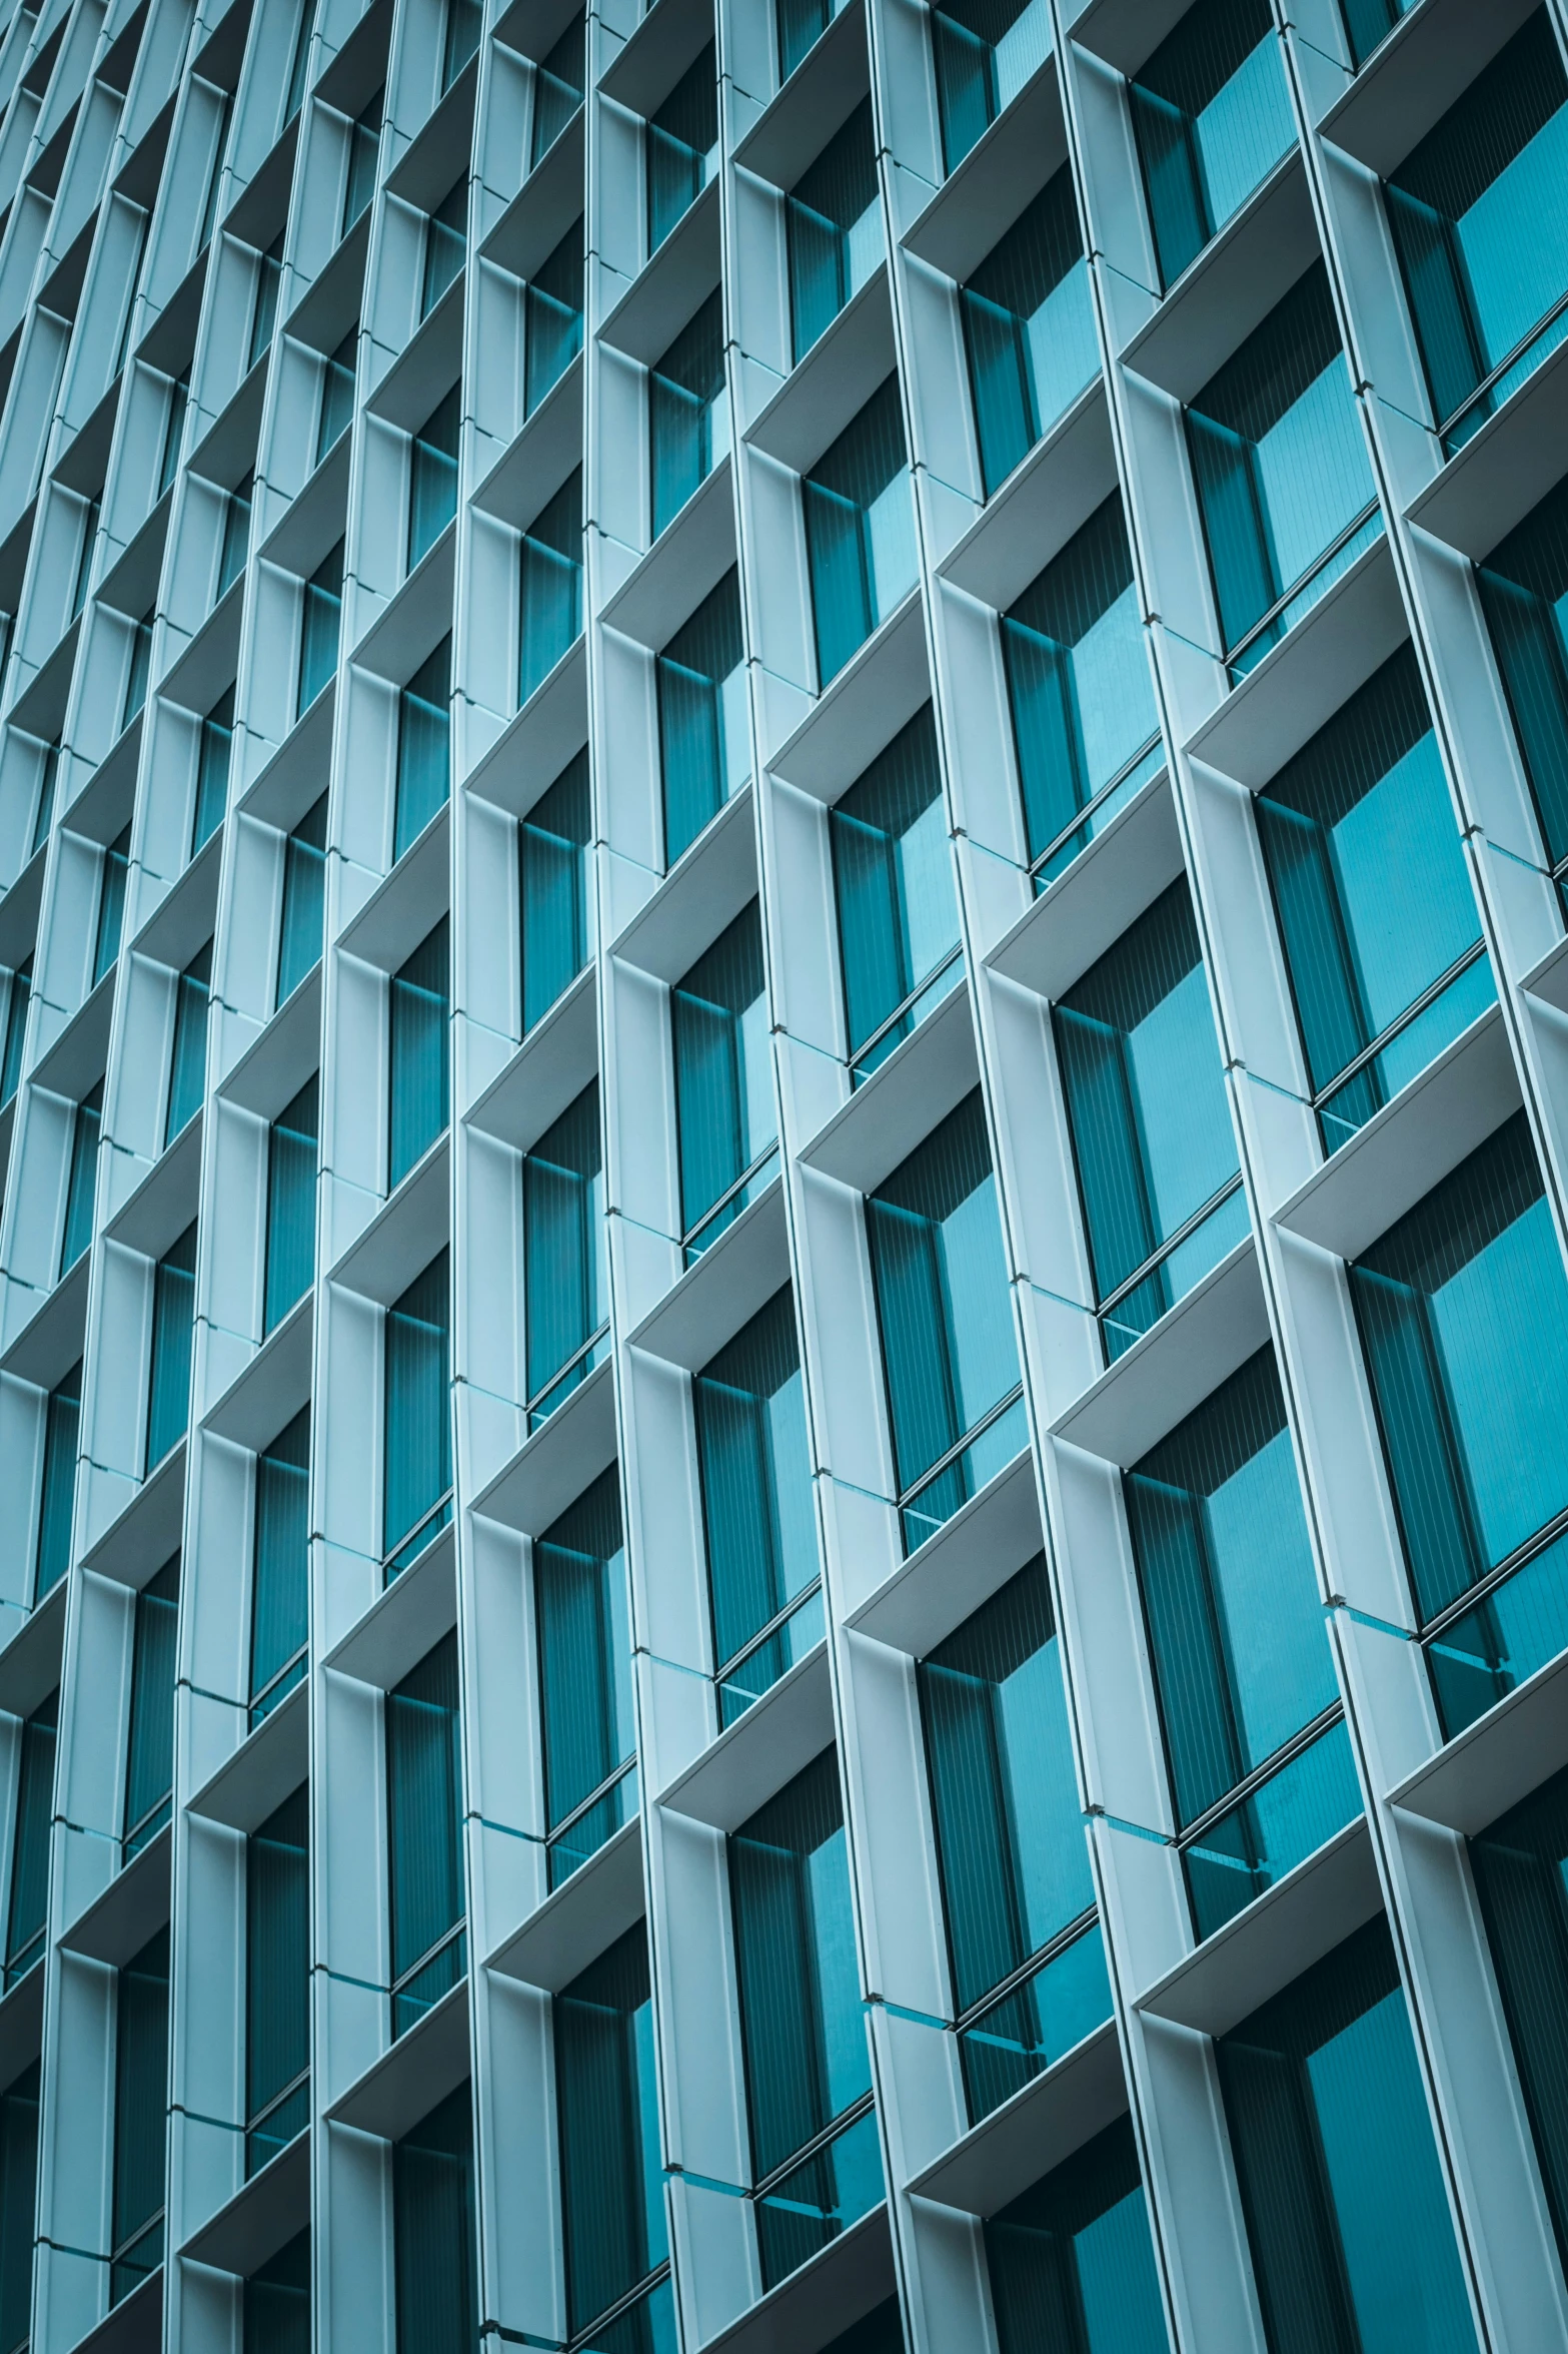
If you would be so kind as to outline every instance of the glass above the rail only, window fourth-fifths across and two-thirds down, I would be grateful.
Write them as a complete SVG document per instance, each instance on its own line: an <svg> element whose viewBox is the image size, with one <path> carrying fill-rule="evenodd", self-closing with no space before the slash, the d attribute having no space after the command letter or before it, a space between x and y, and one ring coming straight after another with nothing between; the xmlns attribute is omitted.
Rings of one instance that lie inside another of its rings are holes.
<svg viewBox="0 0 1568 2354"><path fill-rule="evenodd" d="M1338 1700L1274 1351L1121 1476L1175 1820Z"/></svg>

